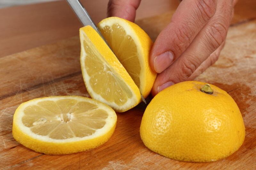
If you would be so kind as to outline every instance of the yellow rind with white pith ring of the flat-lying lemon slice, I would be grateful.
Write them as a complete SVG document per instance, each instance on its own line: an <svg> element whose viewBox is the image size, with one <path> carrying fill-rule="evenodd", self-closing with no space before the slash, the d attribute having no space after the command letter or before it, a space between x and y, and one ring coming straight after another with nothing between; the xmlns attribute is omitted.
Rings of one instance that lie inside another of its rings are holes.
<svg viewBox="0 0 256 170"><path fill-rule="evenodd" d="M32 131L29 130L28 127L22 124L21 118L23 110L30 105L30 103L37 103L44 99L62 99L62 98L71 98L71 99L80 99L81 101L86 100L86 102L91 102L97 105L102 106L102 108L106 109L108 113L112 113L111 117L109 117L109 121L114 122L113 124L106 124L107 128L102 128L100 134L97 134L94 138L90 138L90 136L77 138L76 140L72 139L51 139L51 140L44 140L42 139L41 135L34 134ZM105 142L112 136L116 128L116 113L112 110L108 105L96 101L94 99L89 99L86 97L81 96L52 96L52 97L44 97L44 98L37 98L30 100L28 102L22 103L14 113L13 116L13 124L12 124L12 135L13 138L18 141L20 144L32 149L36 152L48 154L48 155L63 155L63 154L70 154L76 152L86 151L92 148L96 148Z"/></svg>

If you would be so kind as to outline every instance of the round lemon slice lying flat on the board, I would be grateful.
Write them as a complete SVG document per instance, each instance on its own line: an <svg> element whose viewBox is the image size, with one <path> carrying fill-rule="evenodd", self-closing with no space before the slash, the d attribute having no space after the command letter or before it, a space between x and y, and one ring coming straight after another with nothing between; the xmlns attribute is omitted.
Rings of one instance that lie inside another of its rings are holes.
<svg viewBox="0 0 256 170"><path fill-rule="evenodd" d="M22 103L12 134L22 145L50 155L104 144L116 127L116 113L104 103L79 96L52 96Z"/></svg>

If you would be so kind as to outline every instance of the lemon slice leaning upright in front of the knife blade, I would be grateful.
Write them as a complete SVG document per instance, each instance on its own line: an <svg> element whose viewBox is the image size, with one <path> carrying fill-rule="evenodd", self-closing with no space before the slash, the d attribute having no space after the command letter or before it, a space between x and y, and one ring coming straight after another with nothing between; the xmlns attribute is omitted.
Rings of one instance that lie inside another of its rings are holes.
<svg viewBox="0 0 256 170"><path fill-rule="evenodd" d="M140 103L140 91L115 54L91 27L80 28L81 69L93 99L124 112Z"/></svg>

